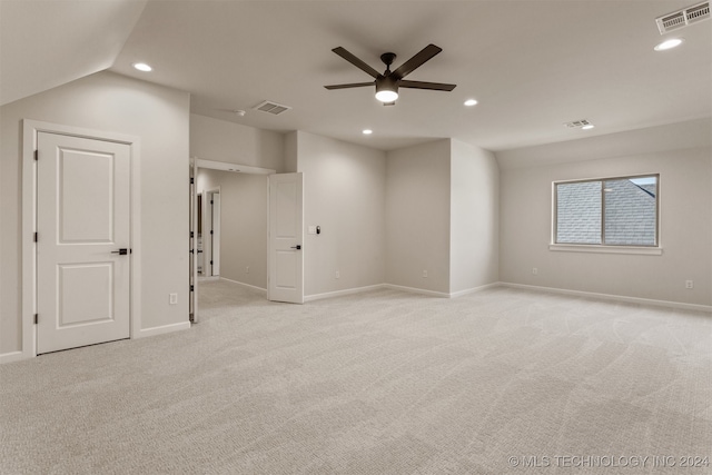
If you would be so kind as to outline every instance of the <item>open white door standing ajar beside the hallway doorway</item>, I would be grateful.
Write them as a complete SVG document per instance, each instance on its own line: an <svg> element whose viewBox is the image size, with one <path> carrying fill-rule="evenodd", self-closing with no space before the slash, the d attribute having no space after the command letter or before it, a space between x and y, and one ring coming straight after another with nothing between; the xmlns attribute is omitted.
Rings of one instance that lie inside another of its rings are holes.
<svg viewBox="0 0 712 475"><path fill-rule="evenodd" d="M301 174L269 176L269 300L304 303Z"/></svg>

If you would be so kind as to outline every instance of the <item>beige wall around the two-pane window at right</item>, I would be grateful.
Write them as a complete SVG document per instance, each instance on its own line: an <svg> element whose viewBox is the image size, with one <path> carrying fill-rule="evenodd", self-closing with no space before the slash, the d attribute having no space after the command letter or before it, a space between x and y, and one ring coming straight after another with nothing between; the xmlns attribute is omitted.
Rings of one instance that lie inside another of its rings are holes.
<svg viewBox="0 0 712 475"><path fill-rule="evenodd" d="M709 122L708 122L709 123ZM693 128L698 127L696 122ZM609 294L634 298L712 305L712 151L708 146L651 151L651 144L668 148L675 144L679 125L650 131L633 131L631 140L644 138L642 154L600 157L583 161L526 166L543 162L542 149L503 154L501 170L501 280L558 289ZM690 128L688 128L690 129ZM709 142L710 129L691 144ZM686 131L685 133L689 133ZM660 140L660 137L670 137ZM706 136L706 139L705 139ZM590 157L590 149L606 150L606 140L631 150L625 136L564 142L560 150L546 146L552 157L562 150ZM591 146L591 147L587 147ZM498 157L500 158L500 157ZM556 180L660 174L661 256L562 253L548 249L552 227L552 182ZM536 267L538 275L532 274ZM694 280L694 289L684 281Z"/></svg>

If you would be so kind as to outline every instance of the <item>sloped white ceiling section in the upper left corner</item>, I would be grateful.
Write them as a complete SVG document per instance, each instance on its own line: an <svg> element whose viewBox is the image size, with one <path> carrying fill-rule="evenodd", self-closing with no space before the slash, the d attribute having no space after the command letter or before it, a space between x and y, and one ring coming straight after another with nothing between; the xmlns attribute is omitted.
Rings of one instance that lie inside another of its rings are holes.
<svg viewBox="0 0 712 475"><path fill-rule="evenodd" d="M110 68L146 0L0 0L0 105Z"/></svg>

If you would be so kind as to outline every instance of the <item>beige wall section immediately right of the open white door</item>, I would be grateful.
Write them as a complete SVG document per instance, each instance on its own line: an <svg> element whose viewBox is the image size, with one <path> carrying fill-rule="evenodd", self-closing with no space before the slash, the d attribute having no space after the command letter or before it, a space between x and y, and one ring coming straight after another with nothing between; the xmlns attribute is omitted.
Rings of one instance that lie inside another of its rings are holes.
<svg viewBox="0 0 712 475"><path fill-rule="evenodd" d="M305 296L383 284L385 152L301 131L287 141L304 172Z"/></svg>

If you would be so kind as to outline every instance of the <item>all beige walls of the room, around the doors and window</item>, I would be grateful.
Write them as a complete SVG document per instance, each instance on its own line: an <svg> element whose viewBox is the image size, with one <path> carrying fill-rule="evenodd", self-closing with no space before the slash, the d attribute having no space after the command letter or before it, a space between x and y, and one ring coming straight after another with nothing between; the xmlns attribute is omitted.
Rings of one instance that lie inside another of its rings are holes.
<svg viewBox="0 0 712 475"><path fill-rule="evenodd" d="M24 118L140 137L141 329L188 319L189 155L305 174L305 227L323 229L305 235L306 296L383 283L446 295L500 279L712 305L709 120L498 152L497 167L492 154L457 140L386 154L190 115L187 93L110 72L6 105L0 112L0 355L22 349ZM661 175L662 256L548 249L552 181L652 172ZM222 228L239 232L239 222L251 219L255 232L243 246L258 249L266 246L258 237L266 214L256 210L266 207L266 194L258 198L263 185L250 180L231 176L221 185L224 194L234 187L235 200L249 202L235 207L235 219ZM226 209L228 197L221 197ZM229 245L222 254L226 277L266 287L266 265L231 256ZM266 248L254 256L266 256ZM248 278L248 265L265 274L250 271ZM538 275L532 275L533 267ZM686 279L694 280L694 289L684 288ZM178 305L168 305L170 293L178 294Z"/></svg>

